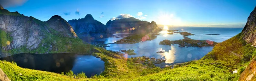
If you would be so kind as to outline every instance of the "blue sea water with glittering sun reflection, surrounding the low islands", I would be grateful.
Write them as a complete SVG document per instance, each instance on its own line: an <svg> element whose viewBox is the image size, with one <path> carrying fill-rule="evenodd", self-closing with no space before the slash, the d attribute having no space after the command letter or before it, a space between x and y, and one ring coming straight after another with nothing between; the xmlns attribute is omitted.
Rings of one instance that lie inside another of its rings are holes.
<svg viewBox="0 0 256 81"><path fill-rule="evenodd" d="M241 32L243 28L225 28L225 27L169 27L169 30L179 30L178 32L191 32L189 38L195 40L209 40L215 42L225 41ZM164 32L164 31L162 31ZM220 34L220 35L204 35L204 34ZM88 43L114 43L122 38L125 38L130 34L127 33L117 33L113 34L106 38L99 38L87 41ZM180 40L183 39L183 35L174 33L173 35L169 34L160 34L157 35L157 38L151 41L145 41L134 44L109 44L109 47L106 47L107 50L120 51L133 49L136 55L125 54L124 57L154 57L157 59L166 59L166 63L183 63L189 62L192 60L201 59L209 51L212 51L213 47L178 47L178 45L159 45L160 41L163 40ZM158 51L165 51L165 53L157 53Z"/></svg>

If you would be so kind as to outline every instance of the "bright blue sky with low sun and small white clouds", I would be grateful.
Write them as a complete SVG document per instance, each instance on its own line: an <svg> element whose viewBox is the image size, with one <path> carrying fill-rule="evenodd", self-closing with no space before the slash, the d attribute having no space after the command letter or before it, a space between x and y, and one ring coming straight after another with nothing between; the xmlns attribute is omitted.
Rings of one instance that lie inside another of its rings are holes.
<svg viewBox="0 0 256 81"><path fill-rule="evenodd" d="M47 21L91 14L106 24L110 19L134 17L157 24L192 27L244 27L256 0L0 0L9 11Z"/></svg>

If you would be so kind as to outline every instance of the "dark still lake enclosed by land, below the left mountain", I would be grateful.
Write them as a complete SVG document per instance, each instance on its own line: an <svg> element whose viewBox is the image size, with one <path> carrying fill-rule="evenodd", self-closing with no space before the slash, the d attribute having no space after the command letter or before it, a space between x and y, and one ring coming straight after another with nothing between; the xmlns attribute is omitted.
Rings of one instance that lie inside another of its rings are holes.
<svg viewBox="0 0 256 81"><path fill-rule="evenodd" d="M15 54L0 60L14 61L23 68L54 73L66 73L69 70L74 74L84 72L87 77L99 75L105 70L100 58L88 54Z"/></svg>

